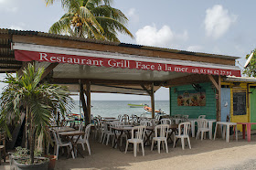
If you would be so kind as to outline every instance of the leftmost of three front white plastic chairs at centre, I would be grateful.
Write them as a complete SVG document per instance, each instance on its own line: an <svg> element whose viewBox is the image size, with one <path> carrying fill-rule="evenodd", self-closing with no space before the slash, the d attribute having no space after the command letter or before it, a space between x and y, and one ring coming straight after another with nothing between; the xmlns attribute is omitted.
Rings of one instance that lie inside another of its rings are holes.
<svg viewBox="0 0 256 170"><path fill-rule="evenodd" d="M135 136L134 136L134 131L136 131ZM133 129L132 129L132 138L128 139L127 142L126 142L125 154L127 153L129 143L133 143L134 157L137 156L137 145L138 144L142 145L142 151L143 151L143 155L144 155L144 132L145 132L145 126L135 126L135 127L133 127Z"/></svg>

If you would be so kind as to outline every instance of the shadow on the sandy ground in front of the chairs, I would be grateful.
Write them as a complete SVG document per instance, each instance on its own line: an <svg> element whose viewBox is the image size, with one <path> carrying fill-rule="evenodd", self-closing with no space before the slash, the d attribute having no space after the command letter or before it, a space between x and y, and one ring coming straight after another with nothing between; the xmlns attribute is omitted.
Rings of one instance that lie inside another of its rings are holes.
<svg viewBox="0 0 256 170"><path fill-rule="evenodd" d="M256 142L255 134L251 135L251 143L248 143L246 140L242 139L241 133L239 135L239 142L236 142L230 136L230 142L226 143L223 139L216 139L215 141L205 139L195 140L195 138L190 138L192 149L190 150L186 146L185 150L181 149L181 144L178 142L176 148L173 148L173 144L168 144L169 153L166 154L165 151L161 150L161 154L158 154L157 148L155 147L154 151L150 150L150 146L145 146L145 156L142 155L140 150L137 153L137 157L133 157L133 145L127 154L121 152L118 149L114 149L111 145L105 145L99 143L98 141L91 140L91 156L88 154L87 150L83 151L84 158L78 157L76 159L69 158L67 159L64 155L59 157L55 169L127 169L133 168L133 165L141 164L144 162L151 162L155 160L163 160L168 158L179 158L186 155L196 155L203 153L210 153L217 150L222 150L225 148L236 148L239 146L244 146L248 144L254 144ZM187 140L186 140L187 141ZM124 147L124 146L123 146ZM80 151L82 151L81 147Z"/></svg>

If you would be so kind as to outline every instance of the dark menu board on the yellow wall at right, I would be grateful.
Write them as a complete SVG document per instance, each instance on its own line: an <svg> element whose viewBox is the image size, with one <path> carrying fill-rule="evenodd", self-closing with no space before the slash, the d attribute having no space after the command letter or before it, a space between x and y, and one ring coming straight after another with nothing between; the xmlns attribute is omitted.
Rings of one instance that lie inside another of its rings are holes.
<svg viewBox="0 0 256 170"><path fill-rule="evenodd" d="M233 115L246 114L246 92L233 93Z"/></svg>

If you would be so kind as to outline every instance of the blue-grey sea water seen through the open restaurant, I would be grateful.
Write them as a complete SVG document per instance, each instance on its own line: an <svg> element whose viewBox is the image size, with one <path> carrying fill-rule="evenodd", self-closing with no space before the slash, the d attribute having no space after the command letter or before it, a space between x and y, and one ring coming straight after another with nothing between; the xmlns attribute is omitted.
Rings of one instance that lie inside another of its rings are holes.
<svg viewBox="0 0 256 170"><path fill-rule="evenodd" d="M93 116L100 115L101 117L117 117L119 114L136 114L151 117L151 114L146 114L144 108L130 108L128 104L147 104L151 106L151 101L91 101L91 114ZM155 101L155 110L159 110L169 114L169 101ZM80 113L80 101L75 101L73 113Z"/></svg>

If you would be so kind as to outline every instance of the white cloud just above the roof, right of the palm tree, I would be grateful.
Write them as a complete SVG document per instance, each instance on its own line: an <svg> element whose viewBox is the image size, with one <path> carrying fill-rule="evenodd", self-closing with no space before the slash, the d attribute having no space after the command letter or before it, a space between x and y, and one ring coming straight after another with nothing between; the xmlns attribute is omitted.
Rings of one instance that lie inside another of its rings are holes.
<svg viewBox="0 0 256 170"><path fill-rule="evenodd" d="M137 44L161 48L176 47L176 44L187 41L188 38L187 31L182 34L176 34L168 26L163 26L157 30L155 25L139 29L135 35Z"/></svg>

